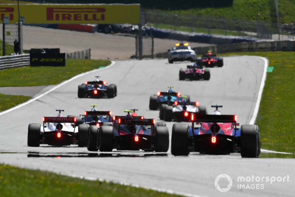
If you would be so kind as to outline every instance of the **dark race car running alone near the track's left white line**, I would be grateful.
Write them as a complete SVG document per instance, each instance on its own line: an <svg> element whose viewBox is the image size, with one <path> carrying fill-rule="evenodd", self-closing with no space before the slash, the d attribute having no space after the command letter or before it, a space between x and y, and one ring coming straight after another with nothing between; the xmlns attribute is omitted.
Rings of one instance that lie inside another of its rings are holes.
<svg viewBox="0 0 295 197"><path fill-rule="evenodd" d="M78 86L78 98L114 98L117 96L117 85L106 86L106 81L100 81L99 76L95 76L95 81L85 82Z"/></svg>

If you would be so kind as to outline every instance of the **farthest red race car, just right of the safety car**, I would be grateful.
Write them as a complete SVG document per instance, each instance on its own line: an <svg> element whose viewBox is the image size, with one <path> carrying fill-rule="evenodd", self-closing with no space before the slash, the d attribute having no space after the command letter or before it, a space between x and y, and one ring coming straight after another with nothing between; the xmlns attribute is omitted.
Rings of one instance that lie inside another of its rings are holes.
<svg viewBox="0 0 295 197"><path fill-rule="evenodd" d="M223 57L217 57L216 54L213 54L212 51L208 51L207 54L204 54L202 57L197 57L197 64L201 64L206 67L222 67L223 66Z"/></svg>

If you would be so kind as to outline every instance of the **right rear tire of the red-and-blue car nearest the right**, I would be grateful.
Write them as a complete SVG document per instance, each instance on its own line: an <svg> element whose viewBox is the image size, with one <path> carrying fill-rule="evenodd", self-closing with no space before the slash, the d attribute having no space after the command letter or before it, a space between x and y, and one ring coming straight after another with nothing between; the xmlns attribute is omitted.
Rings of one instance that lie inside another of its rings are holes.
<svg viewBox="0 0 295 197"><path fill-rule="evenodd" d="M241 156L258 157L260 154L260 136L257 125L241 126Z"/></svg>

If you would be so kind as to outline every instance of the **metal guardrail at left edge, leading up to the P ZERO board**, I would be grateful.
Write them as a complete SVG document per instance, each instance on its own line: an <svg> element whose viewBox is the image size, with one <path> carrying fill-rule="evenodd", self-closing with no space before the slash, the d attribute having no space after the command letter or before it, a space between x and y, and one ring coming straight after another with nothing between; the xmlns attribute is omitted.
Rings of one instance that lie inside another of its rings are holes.
<svg viewBox="0 0 295 197"><path fill-rule="evenodd" d="M0 57L0 70L30 65L30 54Z"/></svg>

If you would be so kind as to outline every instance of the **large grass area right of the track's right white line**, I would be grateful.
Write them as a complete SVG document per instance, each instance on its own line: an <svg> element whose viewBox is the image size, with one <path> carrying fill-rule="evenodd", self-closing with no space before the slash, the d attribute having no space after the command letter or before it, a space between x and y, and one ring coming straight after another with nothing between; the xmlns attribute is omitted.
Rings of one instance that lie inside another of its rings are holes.
<svg viewBox="0 0 295 197"><path fill-rule="evenodd" d="M241 52L225 55L262 56L274 66L267 73L255 124L260 129L261 148L295 154L295 55L294 52Z"/></svg>

